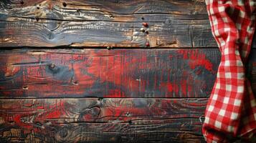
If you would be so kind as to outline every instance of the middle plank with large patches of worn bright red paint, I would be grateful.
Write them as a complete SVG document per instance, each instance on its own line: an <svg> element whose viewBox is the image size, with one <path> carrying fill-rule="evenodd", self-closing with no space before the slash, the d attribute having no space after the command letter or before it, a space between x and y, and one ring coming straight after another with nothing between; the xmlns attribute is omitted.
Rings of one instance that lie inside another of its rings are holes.
<svg viewBox="0 0 256 143"><path fill-rule="evenodd" d="M218 49L0 52L0 97L207 97Z"/></svg>

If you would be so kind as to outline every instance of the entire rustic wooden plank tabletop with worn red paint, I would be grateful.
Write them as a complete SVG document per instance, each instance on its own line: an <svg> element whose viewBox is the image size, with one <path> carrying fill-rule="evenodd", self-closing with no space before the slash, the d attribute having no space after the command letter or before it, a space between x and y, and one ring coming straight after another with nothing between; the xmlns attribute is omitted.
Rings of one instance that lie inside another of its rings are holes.
<svg viewBox="0 0 256 143"><path fill-rule="evenodd" d="M204 142L203 0L1 0L0 46L0 142Z"/></svg>

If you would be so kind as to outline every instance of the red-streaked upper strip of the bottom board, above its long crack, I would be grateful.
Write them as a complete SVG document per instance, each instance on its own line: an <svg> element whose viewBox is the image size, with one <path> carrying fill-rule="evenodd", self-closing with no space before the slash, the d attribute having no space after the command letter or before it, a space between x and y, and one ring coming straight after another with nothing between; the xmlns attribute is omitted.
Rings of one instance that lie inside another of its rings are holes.
<svg viewBox="0 0 256 143"><path fill-rule="evenodd" d="M199 118L204 112L207 99L0 99L0 102L0 114L4 114L5 119L25 124L31 122L30 116L34 116L33 122L57 119L57 123Z"/></svg>

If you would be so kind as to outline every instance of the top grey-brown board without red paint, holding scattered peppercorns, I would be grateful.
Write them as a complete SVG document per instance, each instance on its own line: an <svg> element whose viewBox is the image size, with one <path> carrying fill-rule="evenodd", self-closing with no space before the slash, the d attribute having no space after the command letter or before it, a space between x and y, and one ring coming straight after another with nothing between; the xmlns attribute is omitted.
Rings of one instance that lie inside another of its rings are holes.
<svg viewBox="0 0 256 143"><path fill-rule="evenodd" d="M0 1L0 46L146 47L147 42L217 47L204 1Z"/></svg>

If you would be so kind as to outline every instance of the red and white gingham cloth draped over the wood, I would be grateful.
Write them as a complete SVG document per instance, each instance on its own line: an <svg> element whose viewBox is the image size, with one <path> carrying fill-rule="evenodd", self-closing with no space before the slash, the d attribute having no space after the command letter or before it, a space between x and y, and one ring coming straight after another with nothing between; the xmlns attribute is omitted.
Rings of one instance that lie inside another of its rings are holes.
<svg viewBox="0 0 256 143"><path fill-rule="evenodd" d="M245 64L255 31L256 0L206 0L206 4L222 59L202 132L207 142L250 138L256 130L256 100Z"/></svg>

